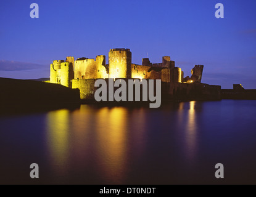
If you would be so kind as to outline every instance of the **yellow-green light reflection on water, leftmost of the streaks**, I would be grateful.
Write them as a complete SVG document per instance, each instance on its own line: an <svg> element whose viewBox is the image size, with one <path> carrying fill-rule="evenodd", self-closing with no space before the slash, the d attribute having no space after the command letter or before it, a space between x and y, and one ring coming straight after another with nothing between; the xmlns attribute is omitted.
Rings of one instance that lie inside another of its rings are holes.
<svg viewBox="0 0 256 197"><path fill-rule="evenodd" d="M47 145L54 172L65 175L68 166L69 111L57 110L47 114Z"/></svg>

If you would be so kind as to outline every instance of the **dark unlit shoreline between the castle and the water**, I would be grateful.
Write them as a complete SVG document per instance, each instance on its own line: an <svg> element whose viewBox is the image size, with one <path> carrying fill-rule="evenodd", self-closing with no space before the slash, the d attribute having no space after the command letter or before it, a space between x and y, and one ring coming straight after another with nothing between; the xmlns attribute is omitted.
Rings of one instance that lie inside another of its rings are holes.
<svg viewBox="0 0 256 197"><path fill-rule="evenodd" d="M236 86L234 86L236 87ZM99 107L149 107L151 101L104 101L97 102L91 93L87 99L80 99L81 91L60 84L25 79L0 78L0 115L51 111L61 108L74 110L80 105ZM256 90L221 89L208 84L162 84L161 106L166 103L189 101L215 101L222 99L256 100ZM141 99L142 100L142 99Z"/></svg>

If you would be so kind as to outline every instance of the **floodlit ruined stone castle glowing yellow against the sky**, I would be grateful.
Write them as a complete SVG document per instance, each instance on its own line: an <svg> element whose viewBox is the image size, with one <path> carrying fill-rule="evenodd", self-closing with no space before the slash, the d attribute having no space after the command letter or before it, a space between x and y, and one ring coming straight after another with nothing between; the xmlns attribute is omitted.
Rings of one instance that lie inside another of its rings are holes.
<svg viewBox="0 0 256 197"><path fill-rule="evenodd" d="M96 79L161 79L162 82L200 83L203 65L195 65L191 77L183 77L181 68L175 66L170 56L163 56L162 63L151 63L149 58L142 58L142 65L131 63L130 49L110 49L109 64L105 55L97 55L95 59L67 57L66 60L54 60L51 64L50 82L70 88L80 89L81 99L94 93Z"/></svg>

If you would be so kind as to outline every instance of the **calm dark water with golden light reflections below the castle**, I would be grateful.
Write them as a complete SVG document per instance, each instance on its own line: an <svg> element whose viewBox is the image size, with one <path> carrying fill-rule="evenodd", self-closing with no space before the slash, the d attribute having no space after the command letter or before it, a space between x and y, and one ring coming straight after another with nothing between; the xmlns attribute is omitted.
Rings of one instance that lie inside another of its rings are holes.
<svg viewBox="0 0 256 197"><path fill-rule="evenodd" d="M0 183L256 183L255 123L255 100L4 116Z"/></svg>

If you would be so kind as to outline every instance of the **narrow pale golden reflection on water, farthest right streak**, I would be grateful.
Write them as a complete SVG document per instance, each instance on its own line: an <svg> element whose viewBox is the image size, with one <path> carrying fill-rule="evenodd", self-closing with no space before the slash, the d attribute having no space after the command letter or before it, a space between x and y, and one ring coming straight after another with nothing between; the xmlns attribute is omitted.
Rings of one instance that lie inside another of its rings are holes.
<svg viewBox="0 0 256 197"><path fill-rule="evenodd" d="M196 135L197 135L197 124L196 124L196 111L195 111L196 101L189 102L188 111L188 127L186 132L186 143L187 143L187 153L189 160L192 161L196 154Z"/></svg>

